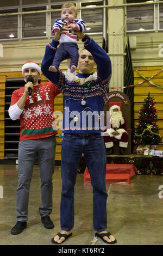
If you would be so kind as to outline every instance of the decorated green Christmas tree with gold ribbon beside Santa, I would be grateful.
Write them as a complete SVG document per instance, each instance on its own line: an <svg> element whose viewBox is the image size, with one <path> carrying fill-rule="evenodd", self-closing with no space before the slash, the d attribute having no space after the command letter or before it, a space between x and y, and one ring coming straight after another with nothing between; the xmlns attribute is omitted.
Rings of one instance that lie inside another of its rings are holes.
<svg viewBox="0 0 163 256"><path fill-rule="evenodd" d="M162 142L159 127L156 124L158 116L154 105L154 98L148 93L143 107L139 111L139 123L137 123L135 131L135 144L157 145Z"/></svg>

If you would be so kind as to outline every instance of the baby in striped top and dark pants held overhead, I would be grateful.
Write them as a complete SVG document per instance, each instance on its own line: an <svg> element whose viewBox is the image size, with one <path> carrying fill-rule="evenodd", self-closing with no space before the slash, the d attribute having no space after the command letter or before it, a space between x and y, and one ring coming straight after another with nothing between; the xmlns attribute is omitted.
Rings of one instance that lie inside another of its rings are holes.
<svg viewBox="0 0 163 256"><path fill-rule="evenodd" d="M72 34L74 31L85 31L85 23L82 19L77 19L77 8L74 4L66 3L61 7L61 19L57 19L53 25L52 33L59 33L62 26L66 26L65 33L60 35L60 46L55 53L53 64L49 71L57 72L60 62L65 59L71 59L70 72L74 72L78 66L78 37Z"/></svg>

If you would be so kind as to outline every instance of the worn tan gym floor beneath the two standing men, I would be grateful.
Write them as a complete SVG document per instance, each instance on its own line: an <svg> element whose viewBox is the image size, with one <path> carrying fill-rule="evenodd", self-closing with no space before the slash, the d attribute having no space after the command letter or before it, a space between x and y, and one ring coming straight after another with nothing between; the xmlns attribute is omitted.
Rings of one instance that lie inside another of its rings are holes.
<svg viewBox="0 0 163 256"><path fill-rule="evenodd" d="M53 175L53 229L46 229L39 215L40 175L34 166L30 184L27 228L11 235L16 224L17 165L0 165L0 245L53 245L51 239L60 231L60 167ZM135 175L130 184L106 184L108 191L108 231L117 239L115 245L163 245L163 176ZM107 246L95 237L92 228L92 186L77 174L75 218L72 236L66 245ZM112 246L115 246L112 245Z"/></svg>

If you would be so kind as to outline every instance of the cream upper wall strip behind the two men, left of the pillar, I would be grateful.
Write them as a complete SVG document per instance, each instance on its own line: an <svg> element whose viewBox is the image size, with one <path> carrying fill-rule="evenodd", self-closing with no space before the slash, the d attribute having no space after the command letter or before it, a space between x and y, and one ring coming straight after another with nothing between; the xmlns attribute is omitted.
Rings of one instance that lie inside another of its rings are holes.
<svg viewBox="0 0 163 256"><path fill-rule="evenodd" d="M93 38L102 46L102 36L93 36ZM0 74L1 72L21 71L22 65L27 62L27 60L41 64L45 47L48 42L51 41L52 38L1 42L3 45L3 57L0 57ZM78 47L79 51L84 48L81 40L79 41ZM62 62L60 67L61 69L66 69L67 62Z"/></svg>

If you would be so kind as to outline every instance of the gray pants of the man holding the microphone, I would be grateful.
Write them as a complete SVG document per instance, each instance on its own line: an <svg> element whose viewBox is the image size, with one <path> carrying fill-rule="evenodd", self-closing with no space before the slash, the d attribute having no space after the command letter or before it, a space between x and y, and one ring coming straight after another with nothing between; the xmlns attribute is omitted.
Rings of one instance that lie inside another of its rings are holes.
<svg viewBox="0 0 163 256"><path fill-rule="evenodd" d="M18 145L18 186L17 186L17 221L28 220L29 187L33 167L38 160L41 178L41 217L52 212L52 175L56 148L55 136L20 141Z"/></svg>

